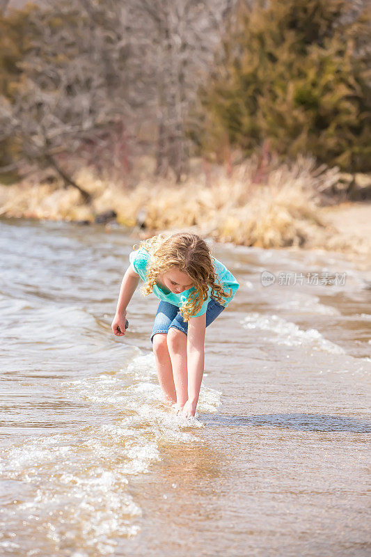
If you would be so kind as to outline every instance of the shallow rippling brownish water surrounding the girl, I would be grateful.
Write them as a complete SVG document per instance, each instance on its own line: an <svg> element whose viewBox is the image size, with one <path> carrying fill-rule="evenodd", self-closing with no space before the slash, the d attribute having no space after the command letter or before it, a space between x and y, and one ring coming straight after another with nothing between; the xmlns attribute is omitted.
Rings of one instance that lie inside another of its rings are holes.
<svg viewBox="0 0 371 557"><path fill-rule="evenodd" d="M0 221L0 242L1 554L370 554L364 262L211 243L241 287L185 421L160 398L155 297L137 291L111 334L135 238ZM307 283L325 272L345 281Z"/></svg>

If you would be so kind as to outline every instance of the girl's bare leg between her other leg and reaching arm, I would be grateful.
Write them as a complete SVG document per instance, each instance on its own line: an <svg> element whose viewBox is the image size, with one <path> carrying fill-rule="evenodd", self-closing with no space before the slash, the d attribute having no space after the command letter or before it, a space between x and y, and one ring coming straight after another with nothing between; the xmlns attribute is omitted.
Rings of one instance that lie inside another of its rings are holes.
<svg viewBox="0 0 371 557"><path fill-rule="evenodd" d="M170 327L167 337L177 405L182 408L188 400L187 334Z"/></svg>

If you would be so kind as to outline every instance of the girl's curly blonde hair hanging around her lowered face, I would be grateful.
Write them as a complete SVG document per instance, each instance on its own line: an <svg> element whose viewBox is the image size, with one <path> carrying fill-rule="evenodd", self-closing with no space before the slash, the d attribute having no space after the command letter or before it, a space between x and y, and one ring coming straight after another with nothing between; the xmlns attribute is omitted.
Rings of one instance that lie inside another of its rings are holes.
<svg viewBox="0 0 371 557"><path fill-rule="evenodd" d="M135 247L135 246L134 246ZM147 281L141 288L144 296L153 291L160 274L172 267L188 274L194 286L187 302L180 308L184 321L200 311L207 299L207 291L211 287L211 297L223 304L230 293L223 290L218 282L214 257L205 240L196 234L180 232L172 235L159 234L140 244L150 253Z"/></svg>

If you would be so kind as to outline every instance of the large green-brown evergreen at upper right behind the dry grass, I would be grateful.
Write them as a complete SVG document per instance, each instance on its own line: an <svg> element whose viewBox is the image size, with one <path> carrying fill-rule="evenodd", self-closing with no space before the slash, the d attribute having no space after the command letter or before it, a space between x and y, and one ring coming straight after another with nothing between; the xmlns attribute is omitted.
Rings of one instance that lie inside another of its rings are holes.
<svg viewBox="0 0 371 557"><path fill-rule="evenodd" d="M203 152L226 143L250 155L311 154L346 171L370 170L370 13L343 0L239 3L200 90Z"/></svg>

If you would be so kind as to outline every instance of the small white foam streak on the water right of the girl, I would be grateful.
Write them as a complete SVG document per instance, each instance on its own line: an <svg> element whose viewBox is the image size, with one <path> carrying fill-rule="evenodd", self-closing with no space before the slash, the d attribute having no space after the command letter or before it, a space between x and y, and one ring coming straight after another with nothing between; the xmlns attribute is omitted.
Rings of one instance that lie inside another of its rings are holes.
<svg viewBox="0 0 371 557"><path fill-rule="evenodd" d="M264 338L269 342L286 346L303 346L313 350L324 350L331 354L345 354L345 350L326 340L317 329L303 331L297 324L286 321L278 315L262 315L260 313L249 313L242 320L245 329L258 329L271 331L274 336Z"/></svg>

